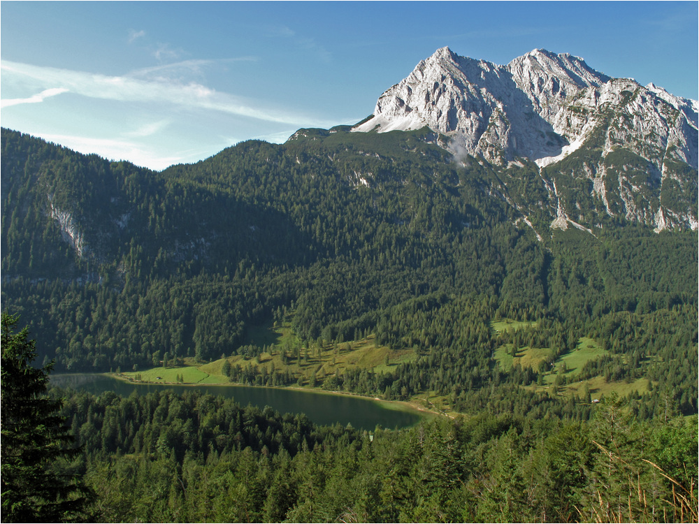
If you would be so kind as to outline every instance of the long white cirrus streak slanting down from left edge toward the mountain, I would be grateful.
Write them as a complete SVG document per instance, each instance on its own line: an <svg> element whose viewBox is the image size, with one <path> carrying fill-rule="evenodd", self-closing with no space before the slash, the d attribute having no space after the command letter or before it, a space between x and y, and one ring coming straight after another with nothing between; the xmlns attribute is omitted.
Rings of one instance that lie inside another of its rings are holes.
<svg viewBox="0 0 699 524"><path fill-rule="evenodd" d="M187 62L180 63L187 64ZM196 61L189 62L192 66ZM146 80L131 75L108 76L61 68L32 66L13 61L0 61L3 75L44 87L43 91L25 99L7 99L6 105L37 103L48 96L71 93L94 99L124 102L170 103L182 108L204 109L280 124L308 124L303 115L272 110L249 99L217 92L196 82L177 82L167 78ZM317 123L317 122L316 122Z"/></svg>

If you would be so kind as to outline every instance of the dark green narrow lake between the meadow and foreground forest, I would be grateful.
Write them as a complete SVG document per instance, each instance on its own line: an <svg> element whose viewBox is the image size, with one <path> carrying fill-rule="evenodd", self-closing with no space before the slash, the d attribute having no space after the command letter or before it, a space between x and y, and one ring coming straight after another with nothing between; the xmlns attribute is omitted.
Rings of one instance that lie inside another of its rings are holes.
<svg viewBox="0 0 699 524"><path fill-rule="evenodd" d="M377 425L382 428L405 428L414 425L420 419L416 412L387 409L379 402L367 398L348 395L328 395L312 391L296 391L284 388L260 388L254 386L177 386L159 384L135 384L117 380L103 374L54 374L52 386L75 388L99 395L105 391L114 391L117 395L129 396L134 391L145 395L152 391L172 390L176 393L201 391L210 395L222 395L233 398L241 406L248 404L263 408L270 406L280 413L305 413L317 424L342 425L352 424L353 428L373 430Z"/></svg>

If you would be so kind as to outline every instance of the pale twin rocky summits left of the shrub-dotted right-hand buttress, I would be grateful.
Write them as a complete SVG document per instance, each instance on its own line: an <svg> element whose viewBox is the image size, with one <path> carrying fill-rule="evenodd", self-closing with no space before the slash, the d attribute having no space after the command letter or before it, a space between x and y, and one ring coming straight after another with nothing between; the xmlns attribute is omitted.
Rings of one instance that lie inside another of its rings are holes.
<svg viewBox="0 0 699 524"><path fill-rule="evenodd" d="M382 94L374 116L354 131L408 131L428 126L457 150L538 159L561 153L566 140L546 140L565 97L607 77L582 59L536 49L507 66L461 57L448 47L420 61ZM526 112L526 115L521 112Z"/></svg>

